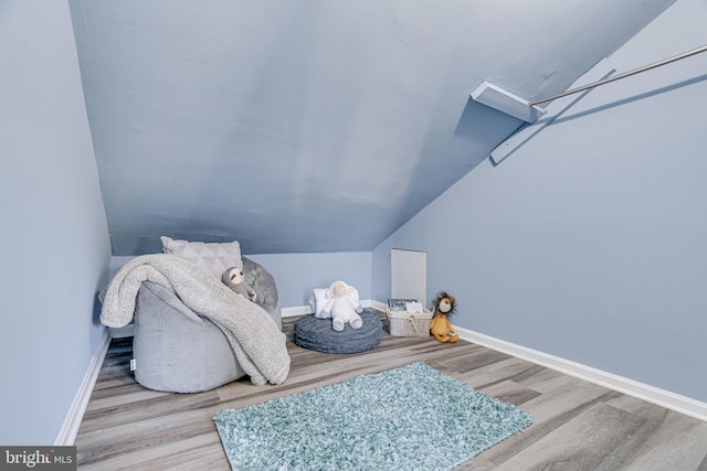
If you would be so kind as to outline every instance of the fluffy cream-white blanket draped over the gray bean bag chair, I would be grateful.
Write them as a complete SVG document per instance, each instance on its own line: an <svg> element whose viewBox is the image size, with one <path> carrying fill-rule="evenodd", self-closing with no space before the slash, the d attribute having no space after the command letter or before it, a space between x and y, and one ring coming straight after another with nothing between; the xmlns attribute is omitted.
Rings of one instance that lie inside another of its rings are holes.
<svg viewBox="0 0 707 471"><path fill-rule="evenodd" d="M143 255L125 264L108 285L101 322L119 328L133 320L143 281L173 290L196 313L215 323L255 385L282 384L289 373L286 335L260 306L231 291L196 264L171 254Z"/></svg>

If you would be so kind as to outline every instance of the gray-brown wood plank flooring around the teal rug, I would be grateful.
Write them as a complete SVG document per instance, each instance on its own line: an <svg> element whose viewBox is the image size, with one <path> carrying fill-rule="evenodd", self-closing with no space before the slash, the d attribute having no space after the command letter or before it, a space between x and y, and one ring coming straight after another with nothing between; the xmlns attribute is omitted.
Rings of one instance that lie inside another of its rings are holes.
<svg viewBox="0 0 707 471"><path fill-rule="evenodd" d="M294 319L284 320L292 332ZM707 471L707 422L460 341L384 333L370 352L335 355L287 342L291 373L281 386L242 378L199 394L135 383L131 339L114 340L76 437L80 470L229 470L212 422L223 408L283 397L424 361L527 410L535 422L457 470Z"/></svg>

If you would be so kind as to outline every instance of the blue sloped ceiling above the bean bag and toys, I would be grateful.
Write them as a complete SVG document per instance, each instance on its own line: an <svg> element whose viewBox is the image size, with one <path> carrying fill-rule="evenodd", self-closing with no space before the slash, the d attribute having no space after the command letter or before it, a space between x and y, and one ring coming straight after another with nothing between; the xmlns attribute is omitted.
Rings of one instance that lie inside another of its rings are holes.
<svg viewBox="0 0 707 471"><path fill-rule="evenodd" d="M70 0L114 255L370 250L674 1Z"/></svg>

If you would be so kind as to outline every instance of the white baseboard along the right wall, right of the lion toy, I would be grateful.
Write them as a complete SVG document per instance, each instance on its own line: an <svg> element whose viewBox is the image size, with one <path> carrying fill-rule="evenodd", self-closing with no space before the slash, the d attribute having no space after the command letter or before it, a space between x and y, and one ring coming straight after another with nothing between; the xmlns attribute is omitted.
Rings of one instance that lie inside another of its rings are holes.
<svg viewBox="0 0 707 471"><path fill-rule="evenodd" d="M540 366L564 373L590 383L608 387L619 393L656 404L666 409L675 410L696 419L707 421L707 403L692 399L669 390L661 389L644 383L639 383L622 376L606 373L591 366L574 363L559 356L549 355L525 346L516 345L468 329L454 327L460 339L476 343L498 352L507 353L517 358L538 364Z"/></svg>

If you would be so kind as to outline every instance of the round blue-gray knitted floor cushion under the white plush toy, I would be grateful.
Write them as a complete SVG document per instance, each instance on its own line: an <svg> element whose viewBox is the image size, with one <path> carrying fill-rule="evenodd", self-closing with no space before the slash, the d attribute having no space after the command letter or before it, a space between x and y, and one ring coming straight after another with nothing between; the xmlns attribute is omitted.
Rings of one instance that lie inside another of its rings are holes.
<svg viewBox="0 0 707 471"><path fill-rule="evenodd" d="M346 324L341 332L331 329L331 319L305 315L295 322L293 341L305 349L324 353L358 353L374 349L383 336L380 318L366 309L360 315L363 321L360 329L351 329Z"/></svg>

